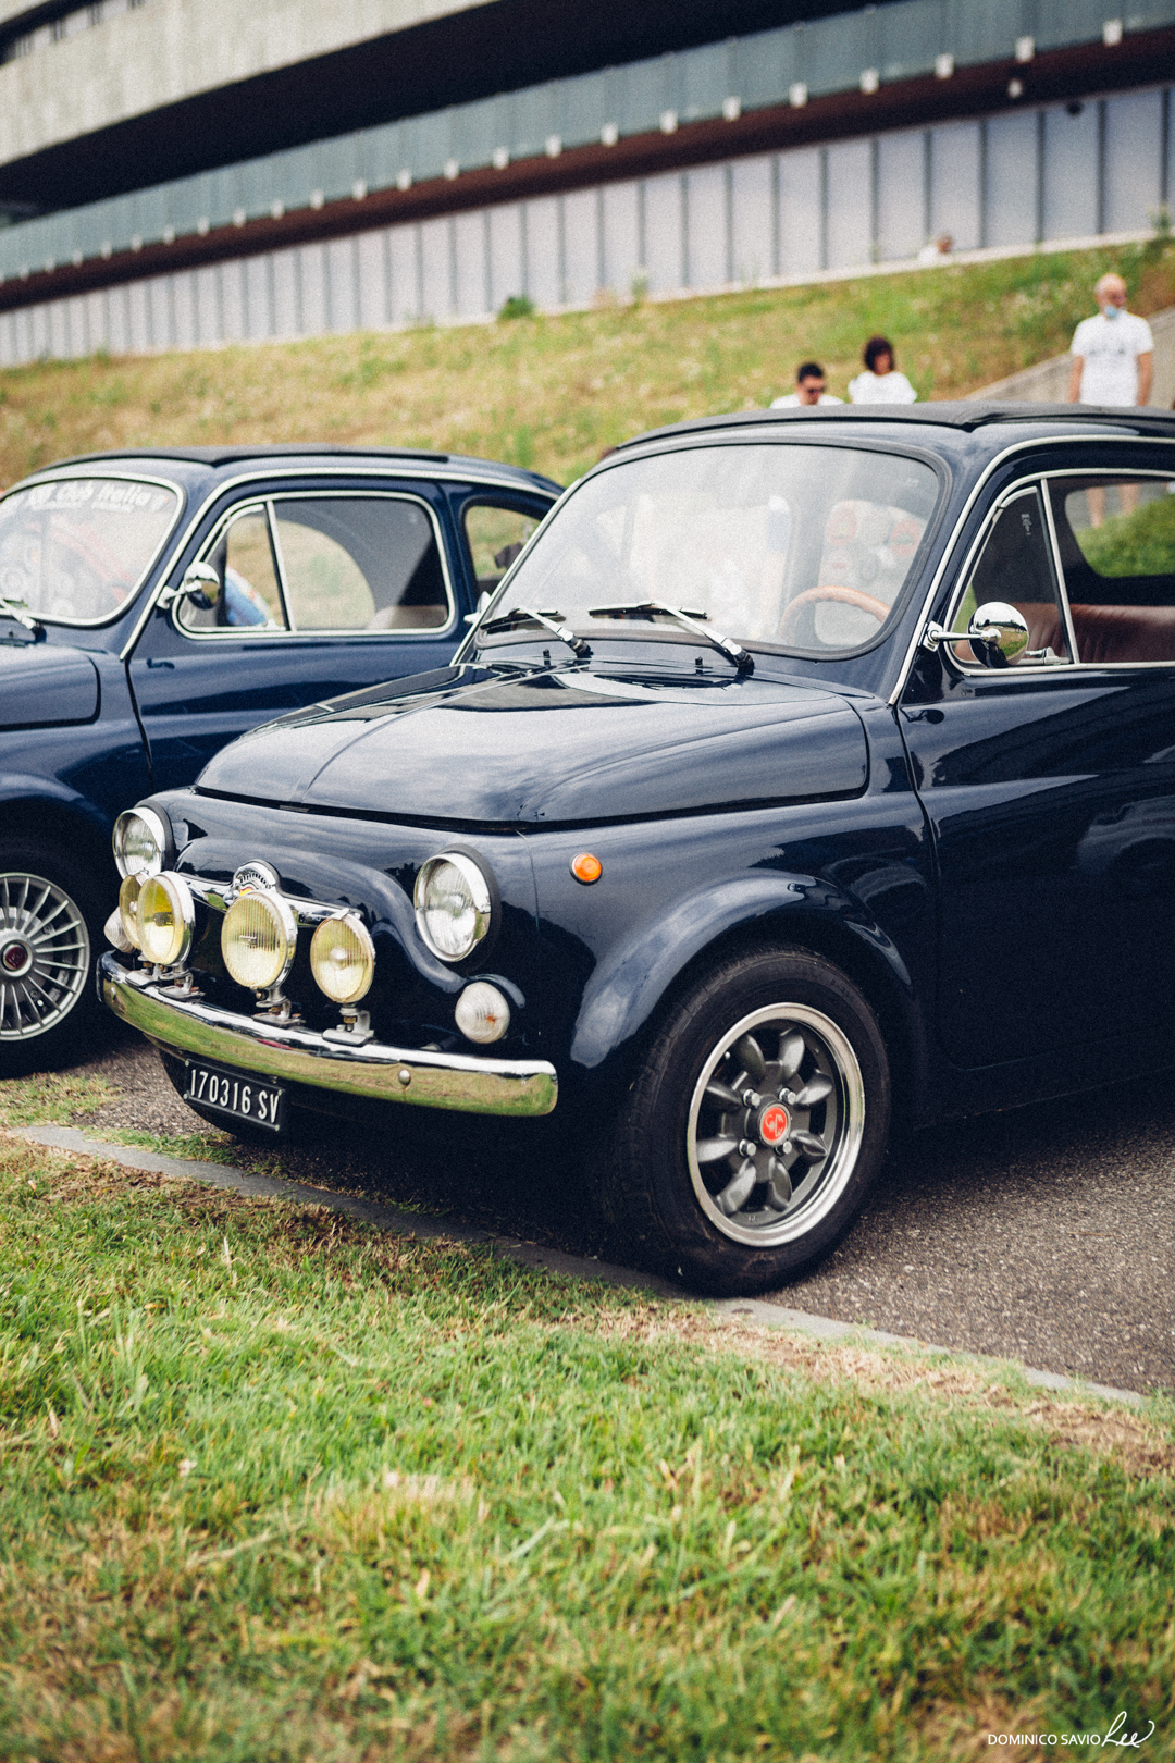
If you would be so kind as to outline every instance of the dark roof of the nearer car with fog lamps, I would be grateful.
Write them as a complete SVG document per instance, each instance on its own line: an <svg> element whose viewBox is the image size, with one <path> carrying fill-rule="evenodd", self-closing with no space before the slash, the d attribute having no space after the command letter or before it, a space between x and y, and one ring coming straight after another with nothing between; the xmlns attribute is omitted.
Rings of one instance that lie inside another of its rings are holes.
<svg viewBox="0 0 1175 1763"><path fill-rule="evenodd" d="M1039 439L1057 434L1059 423L1066 425L1060 430L1064 434L1080 434L1083 427L1096 427L1099 434L1105 434L1106 423L1113 423L1134 435L1157 435L1175 441L1175 414L1170 411L1099 404L1022 404L1011 400L985 404L976 398L958 404L819 404L766 411L733 411L728 416L701 416L669 423L664 428L650 428L631 441L624 441L620 446L645 446L650 441L705 434L713 428L773 428L780 423L796 421L819 423L821 427L828 423L886 423L890 427L909 425L911 430L951 428L960 434L974 434L976 430L1015 423L1025 430L1025 437L1039 435ZM914 439L913 434L911 439Z"/></svg>

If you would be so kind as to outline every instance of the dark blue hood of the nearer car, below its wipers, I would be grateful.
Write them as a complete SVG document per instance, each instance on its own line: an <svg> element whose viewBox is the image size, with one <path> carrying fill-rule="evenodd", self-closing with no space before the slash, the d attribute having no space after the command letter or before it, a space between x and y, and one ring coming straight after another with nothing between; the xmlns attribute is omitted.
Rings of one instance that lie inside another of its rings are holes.
<svg viewBox="0 0 1175 1763"><path fill-rule="evenodd" d="M447 668L395 698L359 693L254 730L199 788L310 811L551 825L853 795L867 767L856 712L817 686Z"/></svg>

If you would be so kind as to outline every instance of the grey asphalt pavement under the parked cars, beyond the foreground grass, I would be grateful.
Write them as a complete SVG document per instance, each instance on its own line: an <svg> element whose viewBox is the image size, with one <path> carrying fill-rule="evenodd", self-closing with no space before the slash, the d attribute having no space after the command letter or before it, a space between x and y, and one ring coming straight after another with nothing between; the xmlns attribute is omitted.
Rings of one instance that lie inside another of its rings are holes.
<svg viewBox="0 0 1175 1763"><path fill-rule="evenodd" d="M78 1125L201 1127L150 1047L115 1026L85 1070L118 1091ZM396 1111L395 1130L329 1123L282 1172L446 1213L467 1227L624 1261L562 1155L558 1116L514 1125ZM238 1162L255 1164L245 1148ZM1122 1389L1175 1389L1175 1081L1170 1075L914 1134L793 1310L1020 1359Z"/></svg>

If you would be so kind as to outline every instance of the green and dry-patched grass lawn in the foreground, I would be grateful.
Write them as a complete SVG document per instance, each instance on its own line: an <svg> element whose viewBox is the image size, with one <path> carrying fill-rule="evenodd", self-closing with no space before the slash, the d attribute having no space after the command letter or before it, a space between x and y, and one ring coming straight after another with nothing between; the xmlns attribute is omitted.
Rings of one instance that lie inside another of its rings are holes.
<svg viewBox="0 0 1175 1763"><path fill-rule="evenodd" d="M1171 1754L1170 1405L7 1141L0 1465L5 1763Z"/></svg>

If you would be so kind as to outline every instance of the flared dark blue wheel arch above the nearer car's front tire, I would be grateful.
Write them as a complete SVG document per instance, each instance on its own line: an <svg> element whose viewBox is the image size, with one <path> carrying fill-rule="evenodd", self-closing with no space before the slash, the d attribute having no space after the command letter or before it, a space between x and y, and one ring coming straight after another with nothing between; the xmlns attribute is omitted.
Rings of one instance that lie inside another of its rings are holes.
<svg viewBox="0 0 1175 1763"><path fill-rule="evenodd" d="M800 947L837 966L867 998L890 1054L897 1111L920 1114L927 1045L914 986L900 950L860 901L812 876L775 874L770 883L710 890L692 904L703 903L705 919L678 908L592 975L571 1044L588 1088L629 1081L675 1000L708 966L735 954Z"/></svg>

